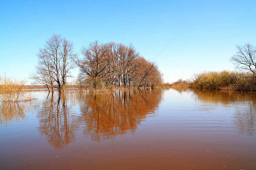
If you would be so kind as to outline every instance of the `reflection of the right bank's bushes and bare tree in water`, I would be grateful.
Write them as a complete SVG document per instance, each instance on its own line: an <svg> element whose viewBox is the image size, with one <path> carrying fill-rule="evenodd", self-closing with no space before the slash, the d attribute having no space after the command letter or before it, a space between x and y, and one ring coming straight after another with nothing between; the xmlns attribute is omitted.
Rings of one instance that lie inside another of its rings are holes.
<svg viewBox="0 0 256 170"><path fill-rule="evenodd" d="M227 108L235 106L235 124L240 134L256 134L256 93L228 90L201 90L190 89L195 100L206 103L223 104Z"/></svg>

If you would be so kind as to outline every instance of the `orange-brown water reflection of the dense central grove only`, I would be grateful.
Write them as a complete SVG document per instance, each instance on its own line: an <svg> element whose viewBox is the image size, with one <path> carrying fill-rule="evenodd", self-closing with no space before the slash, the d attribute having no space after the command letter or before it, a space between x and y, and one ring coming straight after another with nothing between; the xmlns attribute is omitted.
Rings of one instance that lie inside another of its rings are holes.
<svg viewBox="0 0 256 170"><path fill-rule="evenodd" d="M162 94L162 89L89 94L80 104L83 133L97 142L133 134L146 115L157 109Z"/></svg>

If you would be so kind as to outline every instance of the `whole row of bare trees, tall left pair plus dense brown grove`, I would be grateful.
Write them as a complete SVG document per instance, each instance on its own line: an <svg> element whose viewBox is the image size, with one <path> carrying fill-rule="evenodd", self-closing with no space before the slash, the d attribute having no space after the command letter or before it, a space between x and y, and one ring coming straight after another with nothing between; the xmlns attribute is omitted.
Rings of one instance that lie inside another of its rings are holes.
<svg viewBox="0 0 256 170"><path fill-rule="evenodd" d="M70 70L79 67L79 87L154 87L162 83L157 64L143 58L132 45L125 46L97 40L74 52L74 44L60 34L53 34L37 53L38 65L30 74L34 84L45 85L49 91L57 87L59 93L66 85Z"/></svg>

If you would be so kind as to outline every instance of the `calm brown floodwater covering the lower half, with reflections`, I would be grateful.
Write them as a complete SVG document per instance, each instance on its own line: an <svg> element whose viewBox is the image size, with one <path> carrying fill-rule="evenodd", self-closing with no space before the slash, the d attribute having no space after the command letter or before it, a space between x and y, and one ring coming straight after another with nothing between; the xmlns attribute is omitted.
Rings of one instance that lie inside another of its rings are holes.
<svg viewBox="0 0 256 170"><path fill-rule="evenodd" d="M256 169L256 93L188 88L0 103L0 169Z"/></svg>

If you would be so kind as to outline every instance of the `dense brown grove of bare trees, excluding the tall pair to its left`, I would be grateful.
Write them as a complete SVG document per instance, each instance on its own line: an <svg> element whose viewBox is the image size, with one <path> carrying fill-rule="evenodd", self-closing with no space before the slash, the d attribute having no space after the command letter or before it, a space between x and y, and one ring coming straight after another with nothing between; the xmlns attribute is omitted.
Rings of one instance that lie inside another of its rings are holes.
<svg viewBox="0 0 256 170"><path fill-rule="evenodd" d="M98 41L81 49L82 58L75 60L80 78L85 84L122 87L154 87L162 83L162 73L156 63L147 61L130 44Z"/></svg>

